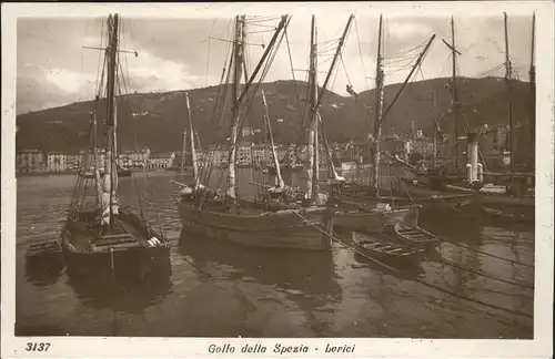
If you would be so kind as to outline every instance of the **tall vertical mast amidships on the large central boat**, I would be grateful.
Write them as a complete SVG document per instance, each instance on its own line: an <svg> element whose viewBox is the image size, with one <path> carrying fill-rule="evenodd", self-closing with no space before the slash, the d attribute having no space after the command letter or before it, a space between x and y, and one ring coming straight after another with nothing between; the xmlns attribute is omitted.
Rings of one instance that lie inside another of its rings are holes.
<svg viewBox="0 0 555 359"><path fill-rule="evenodd" d="M230 161L228 164L228 191L226 195L231 198L236 197L235 184L235 157L239 127L239 96L241 85L241 71L243 68L243 44L244 44L244 16L235 18L235 37L233 49L233 85L231 88L231 95L233 99L232 119L231 119L231 134L230 134Z"/></svg>

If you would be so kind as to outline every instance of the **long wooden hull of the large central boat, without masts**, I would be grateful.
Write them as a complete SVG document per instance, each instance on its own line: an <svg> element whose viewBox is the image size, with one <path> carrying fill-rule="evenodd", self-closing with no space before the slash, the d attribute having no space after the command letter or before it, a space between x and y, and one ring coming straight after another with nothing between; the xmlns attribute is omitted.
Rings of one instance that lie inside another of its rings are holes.
<svg viewBox="0 0 555 359"><path fill-rule="evenodd" d="M178 209L189 235L266 248L329 250L332 245L330 208L234 215L178 201Z"/></svg>

